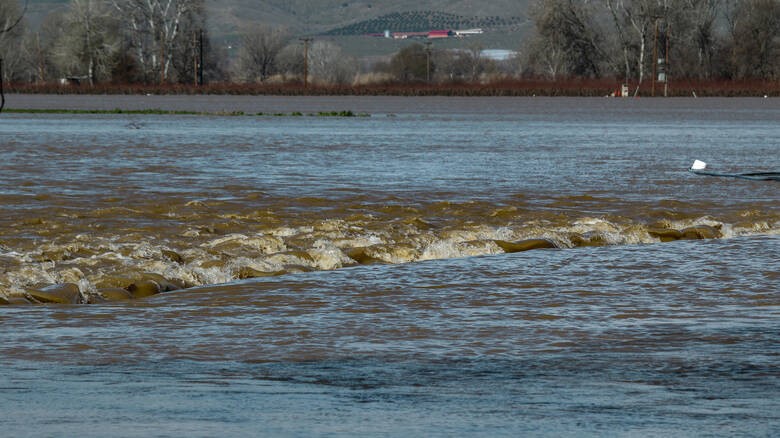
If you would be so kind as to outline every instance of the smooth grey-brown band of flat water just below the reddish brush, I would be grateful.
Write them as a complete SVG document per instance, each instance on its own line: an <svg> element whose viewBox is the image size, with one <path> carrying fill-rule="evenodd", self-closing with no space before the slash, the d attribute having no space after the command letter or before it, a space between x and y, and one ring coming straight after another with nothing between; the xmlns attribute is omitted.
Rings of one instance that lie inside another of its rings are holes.
<svg viewBox="0 0 780 438"><path fill-rule="evenodd" d="M763 96L762 96L763 97ZM755 100L756 107L776 106L778 99ZM514 114L518 108L592 111L615 108L707 109L730 105L733 98L606 98L485 96L252 96L252 95L106 95L7 94L0 119L19 113L202 115L202 116L378 116L402 114Z"/></svg>

